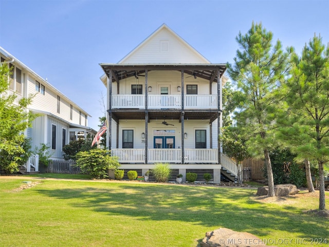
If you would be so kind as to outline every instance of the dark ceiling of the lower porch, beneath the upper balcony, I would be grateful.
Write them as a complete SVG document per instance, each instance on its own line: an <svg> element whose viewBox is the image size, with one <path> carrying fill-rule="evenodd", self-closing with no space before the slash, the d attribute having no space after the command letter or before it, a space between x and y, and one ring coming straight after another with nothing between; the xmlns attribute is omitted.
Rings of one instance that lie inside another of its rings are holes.
<svg viewBox="0 0 329 247"><path fill-rule="evenodd" d="M149 119L150 120L179 120L181 121L180 110L172 110L172 111L159 111L159 110L148 110ZM145 119L145 110L112 110L112 117L118 121L122 119ZM185 110L184 111L184 119L185 120L193 120L193 119L204 119L213 122L217 118L216 110Z"/></svg>

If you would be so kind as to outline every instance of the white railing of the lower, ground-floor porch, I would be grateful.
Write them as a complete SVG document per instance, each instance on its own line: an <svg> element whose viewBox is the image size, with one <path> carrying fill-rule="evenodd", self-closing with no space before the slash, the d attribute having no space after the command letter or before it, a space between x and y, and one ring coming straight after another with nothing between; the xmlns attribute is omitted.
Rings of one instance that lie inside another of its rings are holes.
<svg viewBox="0 0 329 247"><path fill-rule="evenodd" d="M119 157L119 163L145 163L144 149L116 148L112 156ZM148 149L149 163L181 163L181 149ZM185 163L218 163L217 149L185 149Z"/></svg>

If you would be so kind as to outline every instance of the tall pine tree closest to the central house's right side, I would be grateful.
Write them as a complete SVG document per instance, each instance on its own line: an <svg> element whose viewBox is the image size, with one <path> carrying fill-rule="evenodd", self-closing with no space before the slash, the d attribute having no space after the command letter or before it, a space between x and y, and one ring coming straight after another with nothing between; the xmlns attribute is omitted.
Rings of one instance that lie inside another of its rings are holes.
<svg viewBox="0 0 329 247"><path fill-rule="evenodd" d="M240 91L239 111L235 113L237 127L248 133L248 147L255 155L265 157L268 196L275 197L269 151L275 148L273 129L276 111L280 110L280 85L285 81L289 55L278 40L272 45L273 34L262 24L252 23L249 31L236 37L241 46L234 64L227 64L228 74Z"/></svg>

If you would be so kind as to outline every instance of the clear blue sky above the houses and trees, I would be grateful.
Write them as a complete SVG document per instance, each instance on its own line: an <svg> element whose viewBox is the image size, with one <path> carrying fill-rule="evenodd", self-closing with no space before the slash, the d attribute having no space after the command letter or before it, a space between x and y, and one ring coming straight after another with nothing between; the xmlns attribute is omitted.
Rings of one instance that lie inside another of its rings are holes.
<svg viewBox="0 0 329 247"><path fill-rule="evenodd" d="M0 46L92 115L98 130L106 95L99 63L117 63L163 23L210 62L231 63L235 37L252 21L299 55L315 34L329 42L327 0L0 0Z"/></svg>

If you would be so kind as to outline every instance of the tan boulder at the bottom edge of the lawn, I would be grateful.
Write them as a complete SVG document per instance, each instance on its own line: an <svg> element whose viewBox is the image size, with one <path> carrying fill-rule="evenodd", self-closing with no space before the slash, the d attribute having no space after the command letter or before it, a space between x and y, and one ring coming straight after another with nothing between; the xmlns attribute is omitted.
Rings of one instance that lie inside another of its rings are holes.
<svg viewBox="0 0 329 247"><path fill-rule="evenodd" d="M262 240L250 233L240 233L228 228L219 228L206 233L206 237L200 243L202 247L268 247Z"/></svg>

